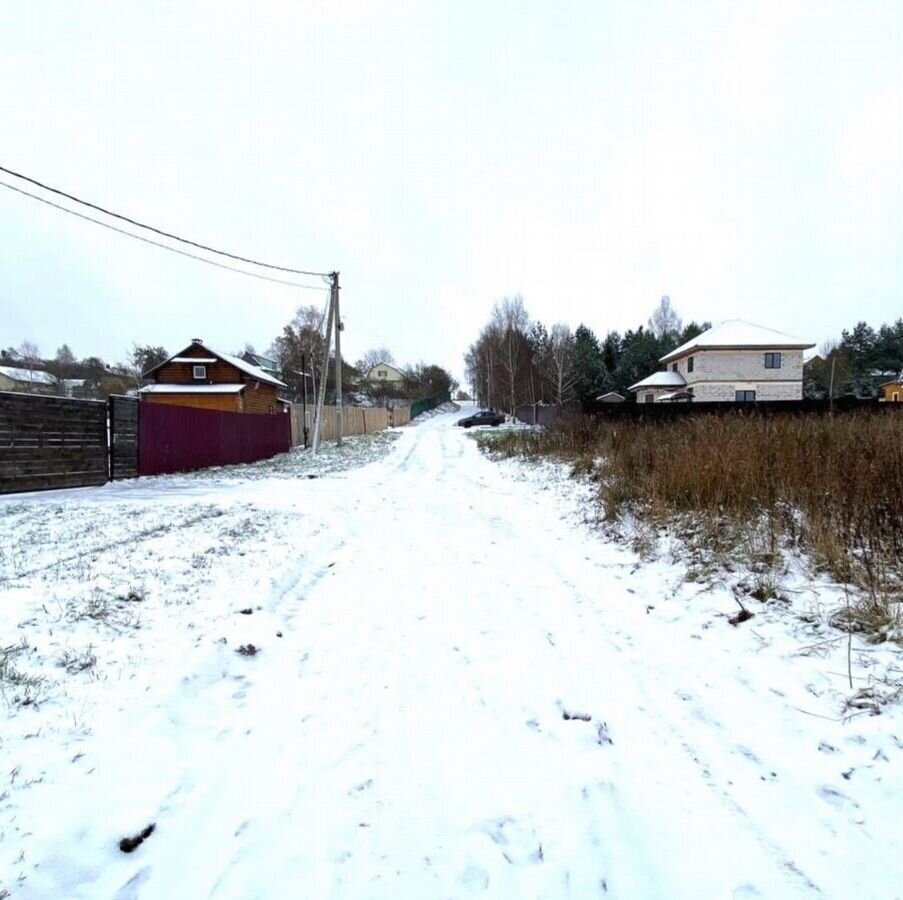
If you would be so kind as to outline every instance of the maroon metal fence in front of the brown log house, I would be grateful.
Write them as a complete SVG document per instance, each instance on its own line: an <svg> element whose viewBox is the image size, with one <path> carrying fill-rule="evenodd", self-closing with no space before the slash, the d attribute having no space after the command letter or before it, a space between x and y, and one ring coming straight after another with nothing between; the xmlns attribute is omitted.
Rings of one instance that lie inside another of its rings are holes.
<svg viewBox="0 0 903 900"><path fill-rule="evenodd" d="M291 447L291 416L140 404L138 472L163 475L268 459Z"/></svg>

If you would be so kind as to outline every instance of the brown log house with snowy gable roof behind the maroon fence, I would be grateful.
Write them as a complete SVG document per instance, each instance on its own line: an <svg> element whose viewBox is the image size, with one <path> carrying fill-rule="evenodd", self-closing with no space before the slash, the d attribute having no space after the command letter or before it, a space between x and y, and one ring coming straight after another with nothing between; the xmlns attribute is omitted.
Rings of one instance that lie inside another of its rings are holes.
<svg viewBox="0 0 903 900"><path fill-rule="evenodd" d="M195 338L184 350L144 373L143 402L223 412L277 413L285 385L263 369Z"/></svg>

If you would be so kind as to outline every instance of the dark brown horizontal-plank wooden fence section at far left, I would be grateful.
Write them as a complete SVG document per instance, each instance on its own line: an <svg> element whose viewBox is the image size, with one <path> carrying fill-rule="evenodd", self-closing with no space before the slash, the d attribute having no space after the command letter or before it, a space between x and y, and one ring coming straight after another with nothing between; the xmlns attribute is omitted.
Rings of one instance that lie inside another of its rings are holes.
<svg viewBox="0 0 903 900"><path fill-rule="evenodd" d="M0 393L0 494L104 484L107 404Z"/></svg>

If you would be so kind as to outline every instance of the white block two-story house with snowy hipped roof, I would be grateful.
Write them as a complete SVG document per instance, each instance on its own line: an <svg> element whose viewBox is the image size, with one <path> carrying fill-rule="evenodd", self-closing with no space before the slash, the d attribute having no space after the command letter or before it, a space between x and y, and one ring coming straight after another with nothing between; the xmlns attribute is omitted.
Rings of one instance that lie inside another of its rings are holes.
<svg viewBox="0 0 903 900"><path fill-rule="evenodd" d="M639 403L801 400L803 351L815 344L742 319L722 322L659 360L631 385Z"/></svg>

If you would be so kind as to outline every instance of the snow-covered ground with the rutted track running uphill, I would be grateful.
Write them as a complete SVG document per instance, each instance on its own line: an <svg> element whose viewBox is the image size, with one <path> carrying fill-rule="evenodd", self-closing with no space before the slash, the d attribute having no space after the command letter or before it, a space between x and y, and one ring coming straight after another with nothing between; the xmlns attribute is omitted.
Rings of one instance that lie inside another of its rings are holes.
<svg viewBox="0 0 903 900"><path fill-rule="evenodd" d="M0 500L0 897L903 896L899 648L733 627L467 411Z"/></svg>

